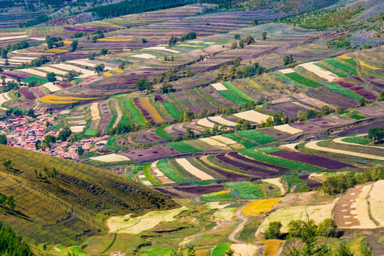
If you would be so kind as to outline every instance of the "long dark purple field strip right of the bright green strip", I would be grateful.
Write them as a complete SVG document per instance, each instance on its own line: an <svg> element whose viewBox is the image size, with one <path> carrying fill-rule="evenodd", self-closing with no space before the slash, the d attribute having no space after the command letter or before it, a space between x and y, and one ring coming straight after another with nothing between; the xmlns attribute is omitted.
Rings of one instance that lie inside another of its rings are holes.
<svg viewBox="0 0 384 256"><path fill-rule="evenodd" d="M315 166L324 167L326 169L341 169L346 167L354 167L350 164L344 164L339 161L326 159L325 157L315 156L310 154L302 154L294 151L279 151L272 153L273 156L279 156L285 159L291 159L294 161L301 161L306 164L313 164Z"/></svg>

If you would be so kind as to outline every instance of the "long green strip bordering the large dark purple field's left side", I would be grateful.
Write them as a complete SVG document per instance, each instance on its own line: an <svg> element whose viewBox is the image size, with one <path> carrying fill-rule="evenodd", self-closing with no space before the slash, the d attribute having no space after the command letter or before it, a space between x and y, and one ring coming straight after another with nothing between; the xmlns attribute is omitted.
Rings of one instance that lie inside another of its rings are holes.
<svg viewBox="0 0 384 256"><path fill-rule="evenodd" d="M265 155L259 152L256 152L254 149L241 149L240 153L245 156L250 156L252 159L255 159L257 161L262 161L269 164L275 164L278 166L284 166L288 169L304 169L304 170L313 170L313 171L319 171L321 168L312 166L309 164L303 164L296 161L291 161L288 159L281 159L278 157Z"/></svg>

